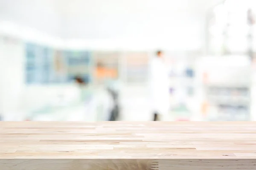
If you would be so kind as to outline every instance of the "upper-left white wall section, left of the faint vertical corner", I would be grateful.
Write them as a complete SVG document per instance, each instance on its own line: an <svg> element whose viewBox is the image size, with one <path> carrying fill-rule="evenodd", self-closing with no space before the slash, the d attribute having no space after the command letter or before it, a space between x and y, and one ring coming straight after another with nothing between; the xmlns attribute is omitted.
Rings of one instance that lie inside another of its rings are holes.
<svg viewBox="0 0 256 170"><path fill-rule="evenodd" d="M60 1L61 2L61 1ZM0 20L61 36L61 3L56 0L0 0Z"/></svg>

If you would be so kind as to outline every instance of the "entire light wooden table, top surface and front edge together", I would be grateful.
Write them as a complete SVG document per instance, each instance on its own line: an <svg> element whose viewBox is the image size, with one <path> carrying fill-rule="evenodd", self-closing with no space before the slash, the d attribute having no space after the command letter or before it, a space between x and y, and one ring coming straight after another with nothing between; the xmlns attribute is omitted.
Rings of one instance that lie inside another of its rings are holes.
<svg viewBox="0 0 256 170"><path fill-rule="evenodd" d="M255 170L256 123L0 122L0 167Z"/></svg>

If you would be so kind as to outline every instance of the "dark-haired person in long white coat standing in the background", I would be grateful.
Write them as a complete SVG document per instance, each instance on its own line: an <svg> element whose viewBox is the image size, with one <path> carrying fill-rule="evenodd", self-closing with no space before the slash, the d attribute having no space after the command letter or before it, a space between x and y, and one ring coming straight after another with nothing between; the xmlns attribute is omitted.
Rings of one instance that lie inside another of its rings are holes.
<svg viewBox="0 0 256 170"><path fill-rule="evenodd" d="M166 120L169 111L169 76L162 51L157 51L151 61L150 91L153 120Z"/></svg>

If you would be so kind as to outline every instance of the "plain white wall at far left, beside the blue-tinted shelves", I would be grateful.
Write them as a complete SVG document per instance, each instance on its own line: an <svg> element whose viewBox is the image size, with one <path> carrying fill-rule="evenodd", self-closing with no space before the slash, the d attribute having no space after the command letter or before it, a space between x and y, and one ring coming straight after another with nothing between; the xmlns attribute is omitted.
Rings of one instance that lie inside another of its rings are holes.
<svg viewBox="0 0 256 170"><path fill-rule="evenodd" d="M13 120L22 114L24 47L17 39L2 37L0 47L0 114Z"/></svg>

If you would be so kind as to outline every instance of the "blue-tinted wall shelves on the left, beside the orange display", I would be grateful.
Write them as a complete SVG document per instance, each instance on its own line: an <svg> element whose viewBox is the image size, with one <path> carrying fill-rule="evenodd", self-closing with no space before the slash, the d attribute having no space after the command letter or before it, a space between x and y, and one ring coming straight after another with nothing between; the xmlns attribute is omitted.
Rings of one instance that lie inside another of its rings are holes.
<svg viewBox="0 0 256 170"><path fill-rule="evenodd" d="M88 51L63 51L34 43L26 44L26 83L72 82L75 76L91 81L92 62Z"/></svg>

